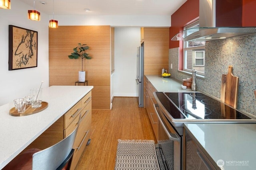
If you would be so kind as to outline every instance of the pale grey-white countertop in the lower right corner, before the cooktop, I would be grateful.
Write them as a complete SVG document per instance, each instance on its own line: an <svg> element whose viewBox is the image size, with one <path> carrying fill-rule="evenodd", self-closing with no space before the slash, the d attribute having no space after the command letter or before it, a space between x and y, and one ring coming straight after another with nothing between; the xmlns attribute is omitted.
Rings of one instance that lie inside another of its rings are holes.
<svg viewBox="0 0 256 170"><path fill-rule="evenodd" d="M256 124L184 123L184 128L214 162L223 160L221 169L256 169Z"/></svg>

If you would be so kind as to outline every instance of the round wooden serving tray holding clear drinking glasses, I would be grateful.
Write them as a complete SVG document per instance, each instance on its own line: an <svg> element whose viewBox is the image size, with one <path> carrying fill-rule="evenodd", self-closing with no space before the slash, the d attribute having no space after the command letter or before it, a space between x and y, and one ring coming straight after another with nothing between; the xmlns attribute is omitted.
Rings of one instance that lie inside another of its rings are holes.
<svg viewBox="0 0 256 170"><path fill-rule="evenodd" d="M40 111L43 111L44 109L46 109L48 107L48 103L47 102L42 102L41 103L42 106L38 107L38 108L32 108L32 106L26 106L26 110L23 113L18 113L18 110L15 109L15 107L12 107L10 109L10 115L12 116L26 116L26 115L32 115L34 113L38 113Z"/></svg>

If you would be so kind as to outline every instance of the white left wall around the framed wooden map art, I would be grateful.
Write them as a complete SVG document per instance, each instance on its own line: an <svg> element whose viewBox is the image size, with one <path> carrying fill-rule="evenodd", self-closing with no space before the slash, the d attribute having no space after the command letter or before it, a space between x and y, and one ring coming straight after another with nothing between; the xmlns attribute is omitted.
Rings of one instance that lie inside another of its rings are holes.
<svg viewBox="0 0 256 170"><path fill-rule="evenodd" d="M28 10L33 7L15 0L11 10L0 9L0 106L16 98L30 94L30 89L49 86L48 23L49 17L41 12L41 21L28 19ZM8 70L8 25L38 31L38 66L20 70Z"/></svg>

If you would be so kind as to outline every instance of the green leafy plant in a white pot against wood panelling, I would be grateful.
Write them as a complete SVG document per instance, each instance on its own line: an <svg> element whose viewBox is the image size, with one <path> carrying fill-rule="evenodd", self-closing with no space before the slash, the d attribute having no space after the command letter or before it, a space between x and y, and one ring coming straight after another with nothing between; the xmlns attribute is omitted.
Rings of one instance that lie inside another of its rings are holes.
<svg viewBox="0 0 256 170"><path fill-rule="evenodd" d="M83 71L83 59L92 59L92 57L88 56L86 53L86 50L88 50L89 47L86 44L78 43L78 46L73 49L73 53L68 56L70 59L82 59L82 71L79 71L78 74L78 81L84 82L85 81L85 71Z"/></svg>

